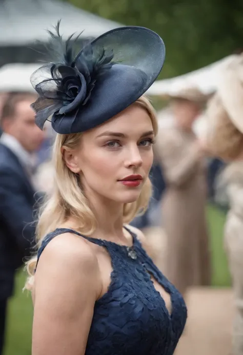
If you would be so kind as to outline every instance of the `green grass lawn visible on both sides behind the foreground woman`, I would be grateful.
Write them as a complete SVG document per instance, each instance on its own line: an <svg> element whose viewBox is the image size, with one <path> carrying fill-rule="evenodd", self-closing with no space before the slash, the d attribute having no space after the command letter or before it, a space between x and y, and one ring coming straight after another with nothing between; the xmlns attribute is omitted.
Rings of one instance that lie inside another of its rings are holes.
<svg viewBox="0 0 243 355"><path fill-rule="evenodd" d="M208 225L212 250L212 285L229 286L230 276L222 247L225 214L215 207L208 207ZM31 327L33 307L30 294L22 288L25 275L16 276L15 296L9 302L7 339L4 355L31 355Z"/></svg>

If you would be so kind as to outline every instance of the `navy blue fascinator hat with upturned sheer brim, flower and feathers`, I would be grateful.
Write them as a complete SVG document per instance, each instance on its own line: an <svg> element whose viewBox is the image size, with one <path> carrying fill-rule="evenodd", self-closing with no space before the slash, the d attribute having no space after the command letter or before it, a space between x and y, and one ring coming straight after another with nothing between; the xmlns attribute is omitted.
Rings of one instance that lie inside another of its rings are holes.
<svg viewBox="0 0 243 355"><path fill-rule="evenodd" d="M73 35L65 42L49 31L56 61L31 75L38 93L32 103L43 129L51 119L60 134L94 128L126 109L143 95L165 60L163 40L144 27L121 27L104 33L75 56Z"/></svg>

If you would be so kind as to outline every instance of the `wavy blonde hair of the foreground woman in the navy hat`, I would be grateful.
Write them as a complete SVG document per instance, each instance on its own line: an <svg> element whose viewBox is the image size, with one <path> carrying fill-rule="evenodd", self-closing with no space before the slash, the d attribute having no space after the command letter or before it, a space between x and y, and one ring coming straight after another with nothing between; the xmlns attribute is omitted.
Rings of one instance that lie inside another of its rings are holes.
<svg viewBox="0 0 243 355"><path fill-rule="evenodd" d="M144 108L151 118L155 135L158 131L158 123L155 111L150 101L142 96L134 102ZM44 237L62 225L68 218L73 217L78 221L78 232L87 236L91 235L96 228L96 220L87 198L85 197L78 182L78 176L67 168L61 152L62 147L74 149L80 141L82 133L57 134L52 163L54 165L53 188L50 197L44 203L39 212L36 228L37 247L42 244ZM146 211L151 196L151 182L147 179L137 201L124 204L124 223L129 223L133 218ZM34 272L37 257L34 256L27 262L28 279L26 288L31 289L34 282Z"/></svg>

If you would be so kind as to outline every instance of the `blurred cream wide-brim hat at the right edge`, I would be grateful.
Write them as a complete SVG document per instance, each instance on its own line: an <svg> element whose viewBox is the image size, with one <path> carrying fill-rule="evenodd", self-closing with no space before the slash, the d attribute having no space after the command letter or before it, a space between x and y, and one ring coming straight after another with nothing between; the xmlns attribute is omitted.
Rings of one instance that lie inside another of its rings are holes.
<svg viewBox="0 0 243 355"><path fill-rule="evenodd" d="M234 126L243 133L243 54L238 55L222 73L217 95Z"/></svg>

